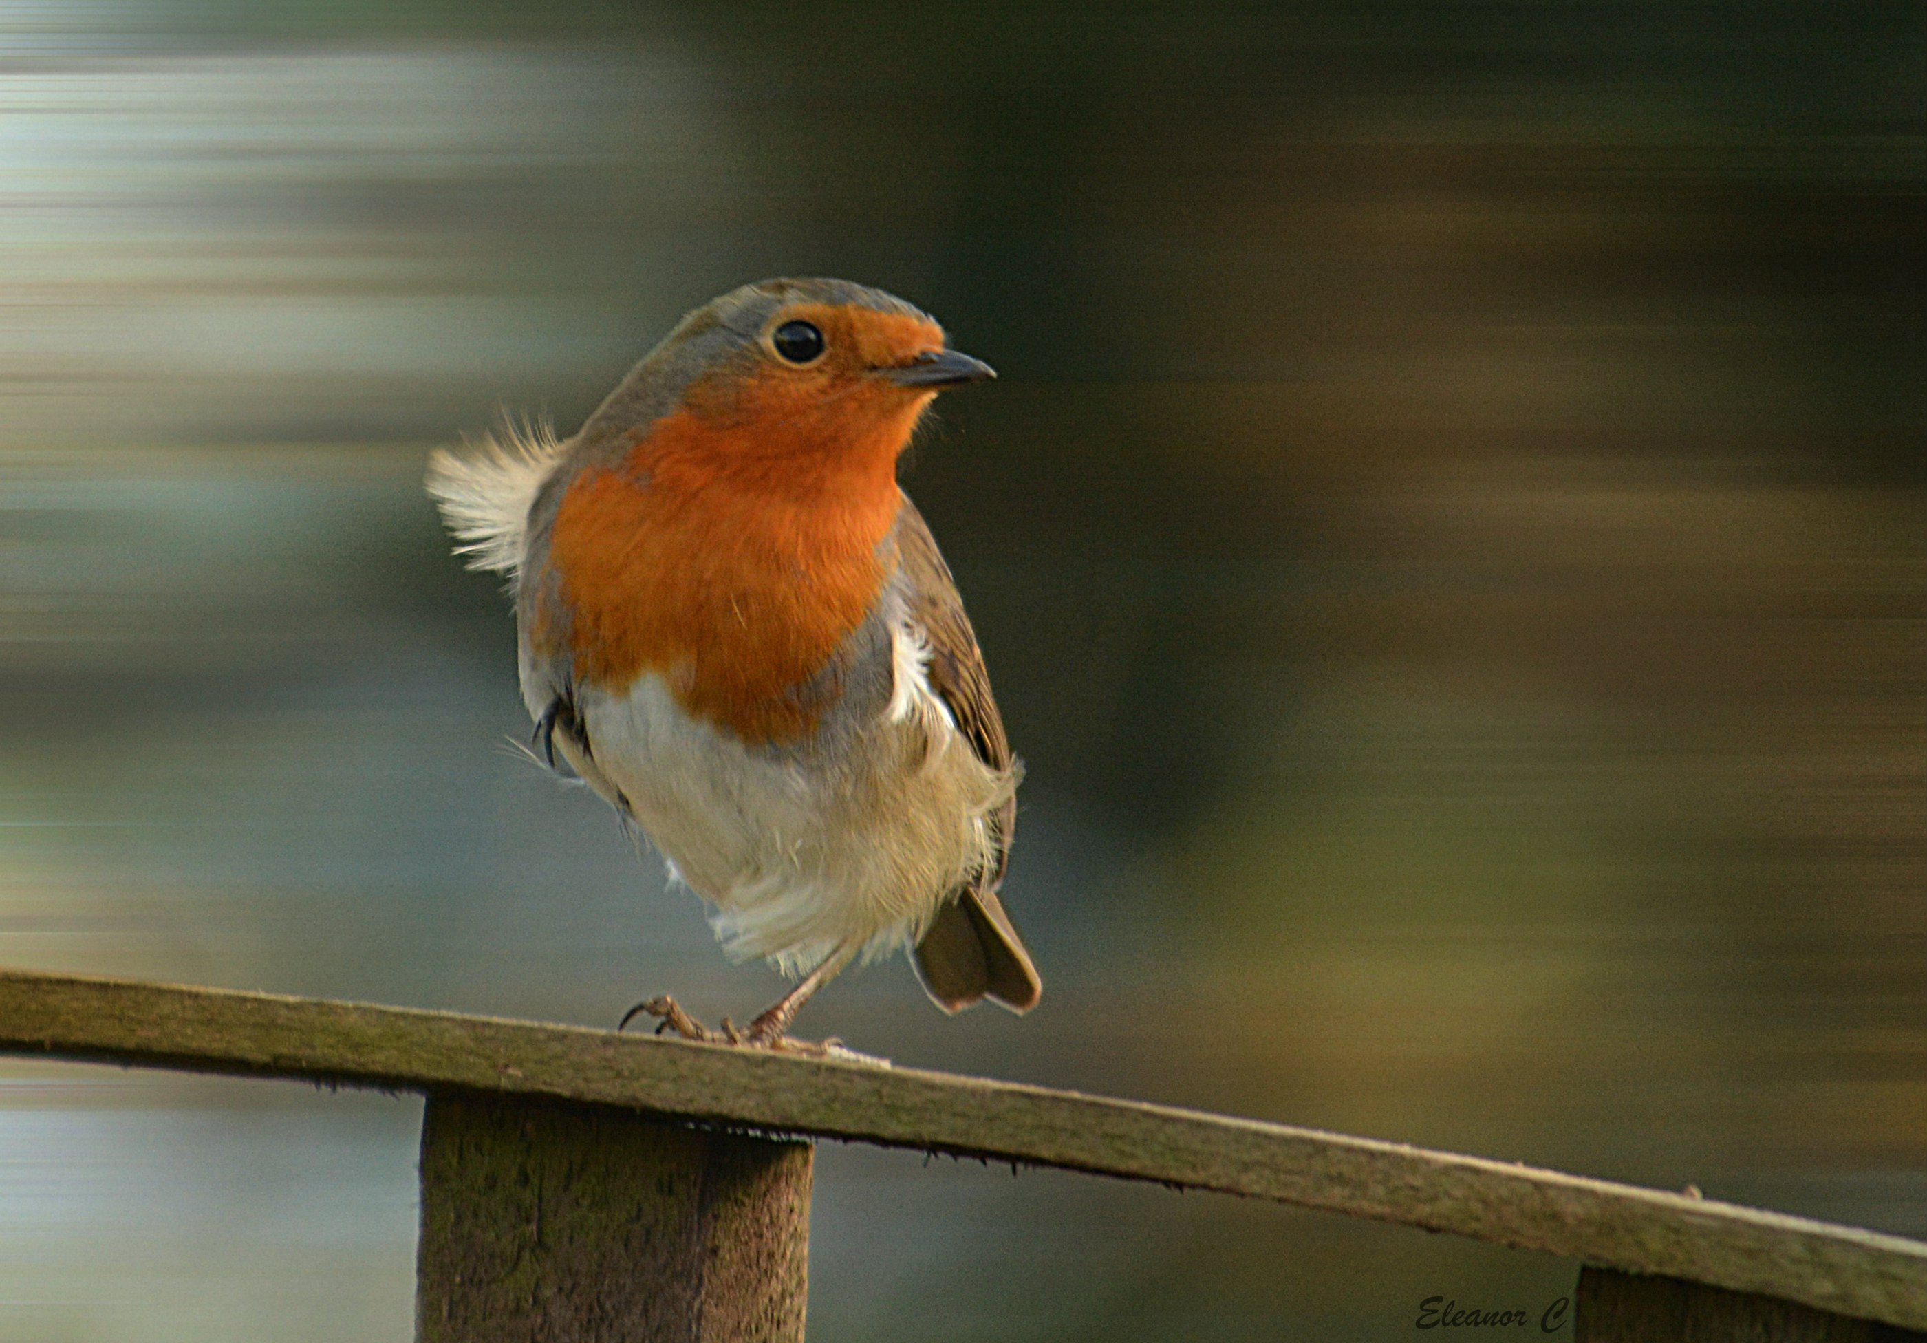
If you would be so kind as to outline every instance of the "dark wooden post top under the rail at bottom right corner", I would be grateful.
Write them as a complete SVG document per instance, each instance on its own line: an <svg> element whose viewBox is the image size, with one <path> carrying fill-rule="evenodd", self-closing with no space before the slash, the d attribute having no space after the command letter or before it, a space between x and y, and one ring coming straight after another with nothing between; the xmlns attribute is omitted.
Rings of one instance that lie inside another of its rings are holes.
<svg viewBox="0 0 1927 1343"><path fill-rule="evenodd" d="M1678 1277L1582 1268L1572 1343L1923 1343L1927 1333Z"/></svg>

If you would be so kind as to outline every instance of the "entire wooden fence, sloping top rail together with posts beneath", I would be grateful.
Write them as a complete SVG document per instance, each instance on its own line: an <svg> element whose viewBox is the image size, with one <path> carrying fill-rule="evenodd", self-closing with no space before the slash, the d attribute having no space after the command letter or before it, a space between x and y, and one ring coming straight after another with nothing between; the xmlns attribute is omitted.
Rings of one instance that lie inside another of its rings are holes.
<svg viewBox="0 0 1927 1343"><path fill-rule="evenodd" d="M418 1091L424 1339L800 1339L809 1146L1216 1189L1584 1266L1580 1343L1927 1339L1927 1243L1399 1143L977 1077L0 971L0 1052Z"/></svg>

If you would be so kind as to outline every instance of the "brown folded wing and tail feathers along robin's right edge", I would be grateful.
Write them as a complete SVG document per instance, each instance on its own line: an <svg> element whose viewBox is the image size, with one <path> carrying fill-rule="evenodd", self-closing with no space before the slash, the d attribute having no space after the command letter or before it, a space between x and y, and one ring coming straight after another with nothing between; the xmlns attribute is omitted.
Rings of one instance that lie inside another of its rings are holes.
<svg viewBox="0 0 1927 1343"><path fill-rule="evenodd" d="M896 518L896 553L908 580L910 613L931 644L931 690L948 705L977 759L990 769L1012 769L1010 738L1004 736L1004 719L990 696L990 674L983 667L977 634L964 615L964 599L937 549L937 538L908 495ZM1029 1012L1044 990L1023 938L996 898L1017 827L1016 800L1004 803L992 825L992 869L958 892L917 944L915 963L923 987L944 1012L958 1012L987 996L1014 1012Z"/></svg>

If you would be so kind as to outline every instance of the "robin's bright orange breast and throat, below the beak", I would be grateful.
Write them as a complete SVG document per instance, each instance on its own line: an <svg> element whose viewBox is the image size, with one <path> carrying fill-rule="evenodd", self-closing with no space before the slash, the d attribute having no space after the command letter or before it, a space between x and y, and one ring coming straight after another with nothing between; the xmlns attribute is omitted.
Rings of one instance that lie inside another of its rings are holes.
<svg viewBox="0 0 1927 1343"><path fill-rule="evenodd" d="M576 678L622 690L657 672L742 740L811 732L821 707L792 692L883 590L896 455L929 403L879 395L676 410L624 468L578 476L549 547L568 619L545 622L567 630Z"/></svg>

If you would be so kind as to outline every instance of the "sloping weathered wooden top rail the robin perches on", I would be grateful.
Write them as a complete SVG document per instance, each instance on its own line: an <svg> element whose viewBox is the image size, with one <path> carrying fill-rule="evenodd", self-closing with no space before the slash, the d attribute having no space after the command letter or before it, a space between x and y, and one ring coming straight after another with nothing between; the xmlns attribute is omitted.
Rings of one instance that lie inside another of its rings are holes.
<svg viewBox="0 0 1927 1343"><path fill-rule="evenodd" d="M551 1096L1280 1198L1927 1328L1927 1243L1256 1119L609 1031L0 973L0 1050Z"/></svg>

